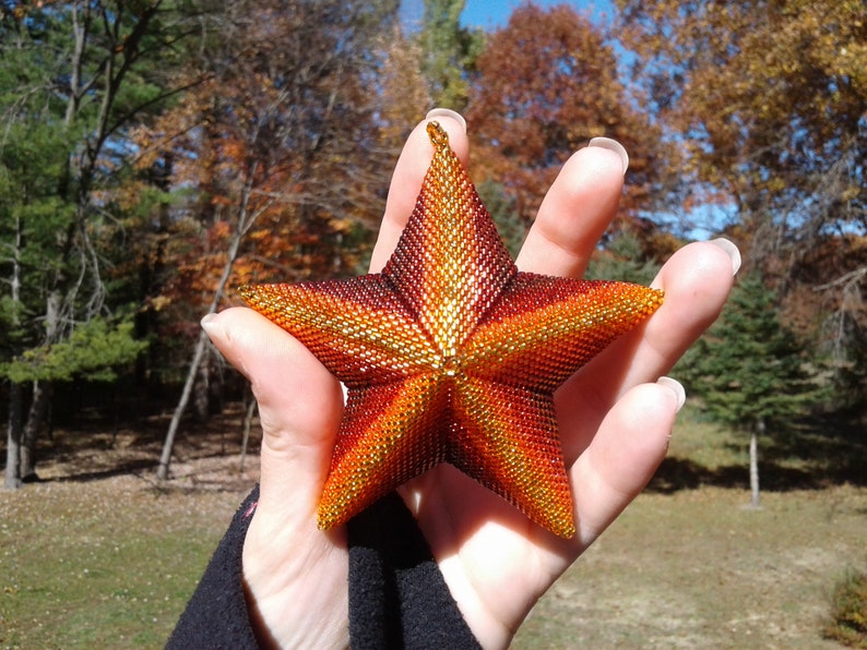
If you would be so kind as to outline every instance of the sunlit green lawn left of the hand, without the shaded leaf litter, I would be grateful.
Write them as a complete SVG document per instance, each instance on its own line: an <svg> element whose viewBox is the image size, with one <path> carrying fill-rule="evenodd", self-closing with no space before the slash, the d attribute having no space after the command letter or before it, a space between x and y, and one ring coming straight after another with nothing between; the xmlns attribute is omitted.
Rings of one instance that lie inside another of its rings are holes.
<svg viewBox="0 0 867 650"><path fill-rule="evenodd" d="M0 493L0 647L165 645L242 494L140 483Z"/></svg>

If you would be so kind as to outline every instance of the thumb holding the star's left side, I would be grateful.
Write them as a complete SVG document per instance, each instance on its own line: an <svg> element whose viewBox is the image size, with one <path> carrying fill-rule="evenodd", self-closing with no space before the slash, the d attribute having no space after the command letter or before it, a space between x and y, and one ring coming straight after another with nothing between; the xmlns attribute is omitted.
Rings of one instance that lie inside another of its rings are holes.
<svg viewBox="0 0 867 650"><path fill-rule="evenodd" d="M206 316L202 327L259 402L260 514L314 527L343 412L340 384L293 336L250 309Z"/></svg>

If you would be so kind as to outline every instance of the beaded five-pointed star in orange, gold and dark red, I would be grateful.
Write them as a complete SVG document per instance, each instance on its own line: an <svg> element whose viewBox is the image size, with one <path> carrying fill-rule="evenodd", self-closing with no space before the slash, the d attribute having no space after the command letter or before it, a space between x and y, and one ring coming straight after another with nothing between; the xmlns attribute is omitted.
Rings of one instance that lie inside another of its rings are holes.
<svg viewBox="0 0 867 650"><path fill-rule="evenodd" d="M554 390L662 292L520 273L446 131L427 132L434 159L381 273L240 289L347 387L318 523L449 462L571 538Z"/></svg>

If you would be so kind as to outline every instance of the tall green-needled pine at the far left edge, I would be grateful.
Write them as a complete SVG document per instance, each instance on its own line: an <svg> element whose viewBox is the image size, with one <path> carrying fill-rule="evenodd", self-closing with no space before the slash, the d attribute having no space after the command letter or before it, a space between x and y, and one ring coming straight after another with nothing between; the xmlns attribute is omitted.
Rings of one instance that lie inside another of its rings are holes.
<svg viewBox="0 0 867 650"><path fill-rule="evenodd" d="M178 15L162 0L2 5L0 233L14 314L14 342L4 353L23 359L29 351L29 360L46 363L31 375L9 375L8 486L34 472L36 435L52 382L62 378L48 372L57 368L49 362L55 347L95 318L119 322L98 245L114 227L105 192L122 169L124 130L175 92L162 85L156 62L175 58L183 33ZM112 334L130 336L122 327ZM26 419L17 416L16 385L25 377L33 392Z"/></svg>

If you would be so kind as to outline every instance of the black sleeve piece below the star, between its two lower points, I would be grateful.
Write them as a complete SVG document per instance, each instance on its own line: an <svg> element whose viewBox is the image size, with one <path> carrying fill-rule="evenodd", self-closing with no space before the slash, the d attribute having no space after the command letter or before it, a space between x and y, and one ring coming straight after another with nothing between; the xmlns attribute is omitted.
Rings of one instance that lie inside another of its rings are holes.
<svg viewBox="0 0 867 650"><path fill-rule="evenodd" d="M348 535L353 650L480 648L396 493L351 520Z"/></svg>

